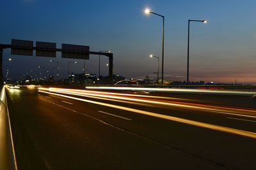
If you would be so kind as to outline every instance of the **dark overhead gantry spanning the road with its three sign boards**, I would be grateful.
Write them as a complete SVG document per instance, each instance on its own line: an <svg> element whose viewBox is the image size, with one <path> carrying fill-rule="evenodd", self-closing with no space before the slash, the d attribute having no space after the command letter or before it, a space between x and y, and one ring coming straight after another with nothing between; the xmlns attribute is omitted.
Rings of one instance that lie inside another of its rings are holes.
<svg viewBox="0 0 256 170"><path fill-rule="evenodd" d="M3 80L2 65L4 48L11 48L12 55L33 56L33 50L36 50L36 56L38 57L56 57L56 52L61 52L61 58L88 60L90 54L105 55L109 58L109 83L113 83L113 53L90 52L90 46L84 45L62 44L61 48L56 48L56 43L40 41L36 41L36 46L33 46L33 41L20 39L12 39L11 45L0 44L0 82Z"/></svg>

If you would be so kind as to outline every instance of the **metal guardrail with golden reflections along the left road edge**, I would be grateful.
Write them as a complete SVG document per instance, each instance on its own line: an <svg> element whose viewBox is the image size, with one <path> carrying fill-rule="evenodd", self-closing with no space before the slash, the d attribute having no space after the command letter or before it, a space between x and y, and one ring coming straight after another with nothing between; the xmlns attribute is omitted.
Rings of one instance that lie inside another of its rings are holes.
<svg viewBox="0 0 256 170"><path fill-rule="evenodd" d="M0 94L0 169L17 170L10 116L4 86L1 86Z"/></svg>

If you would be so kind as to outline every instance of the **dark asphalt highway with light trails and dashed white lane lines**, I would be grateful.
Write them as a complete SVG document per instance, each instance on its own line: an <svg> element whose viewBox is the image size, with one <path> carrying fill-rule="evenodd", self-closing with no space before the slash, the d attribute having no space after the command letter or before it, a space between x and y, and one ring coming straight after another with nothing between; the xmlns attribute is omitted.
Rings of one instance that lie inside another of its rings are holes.
<svg viewBox="0 0 256 170"><path fill-rule="evenodd" d="M256 169L253 96L6 92L19 169Z"/></svg>

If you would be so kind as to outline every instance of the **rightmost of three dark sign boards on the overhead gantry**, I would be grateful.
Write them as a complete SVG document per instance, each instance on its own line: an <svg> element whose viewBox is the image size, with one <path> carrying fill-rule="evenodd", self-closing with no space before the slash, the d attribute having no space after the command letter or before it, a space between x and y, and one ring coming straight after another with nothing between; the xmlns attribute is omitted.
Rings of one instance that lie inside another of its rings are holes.
<svg viewBox="0 0 256 170"><path fill-rule="evenodd" d="M89 59L90 46L62 44L61 58Z"/></svg>

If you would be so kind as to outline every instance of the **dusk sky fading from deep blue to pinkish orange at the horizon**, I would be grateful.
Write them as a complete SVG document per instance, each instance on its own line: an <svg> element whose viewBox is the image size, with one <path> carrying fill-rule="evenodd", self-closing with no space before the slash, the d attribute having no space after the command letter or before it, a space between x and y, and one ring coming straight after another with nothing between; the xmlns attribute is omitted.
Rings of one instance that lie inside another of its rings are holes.
<svg viewBox="0 0 256 170"><path fill-rule="evenodd" d="M74 45L88 45L91 51L111 50L114 74L125 78L156 77L157 60L161 57L162 20L146 15L150 10L164 15L164 78L186 80L188 19L209 20L191 22L190 81L203 80L233 83L256 83L256 1L64 1L64 0L1 0L0 43L11 39L25 39ZM60 76L67 77L68 61L11 55L4 50L3 72L9 66L10 77L42 72L45 67L56 74L55 63L60 62ZM101 73L108 75L108 57L101 57ZM83 60L70 65L70 72L83 73ZM98 75L99 56L86 60L87 72ZM160 67L161 71L161 67ZM5 75L5 74L4 74Z"/></svg>

